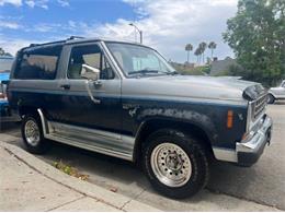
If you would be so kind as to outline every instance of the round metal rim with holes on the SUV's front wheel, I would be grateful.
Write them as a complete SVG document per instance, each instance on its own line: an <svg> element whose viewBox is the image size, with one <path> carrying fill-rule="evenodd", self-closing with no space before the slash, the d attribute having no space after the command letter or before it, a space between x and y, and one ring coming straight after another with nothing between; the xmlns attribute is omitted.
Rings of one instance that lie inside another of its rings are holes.
<svg viewBox="0 0 285 213"><path fill-rule="evenodd" d="M185 185L192 174L190 157L174 143L161 143L151 153L150 164L158 180L169 187Z"/></svg>

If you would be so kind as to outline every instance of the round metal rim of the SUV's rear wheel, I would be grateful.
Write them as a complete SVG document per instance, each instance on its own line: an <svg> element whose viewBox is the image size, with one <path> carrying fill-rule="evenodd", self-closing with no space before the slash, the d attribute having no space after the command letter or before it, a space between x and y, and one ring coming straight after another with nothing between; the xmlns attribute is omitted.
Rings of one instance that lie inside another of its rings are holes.
<svg viewBox="0 0 285 213"><path fill-rule="evenodd" d="M37 123L33 120L29 120L25 123L25 139L33 146L39 143L39 130Z"/></svg>

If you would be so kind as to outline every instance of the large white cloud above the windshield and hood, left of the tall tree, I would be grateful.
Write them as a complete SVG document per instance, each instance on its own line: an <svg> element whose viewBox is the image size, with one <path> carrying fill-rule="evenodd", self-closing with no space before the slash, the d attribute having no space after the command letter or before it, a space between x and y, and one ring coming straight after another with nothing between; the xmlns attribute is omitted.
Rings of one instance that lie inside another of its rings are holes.
<svg viewBox="0 0 285 213"><path fill-rule="evenodd" d="M135 31L128 25L134 22L144 32L144 43L158 48L168 58L183 62L185 44L191 43L195 48L204 40L217 43L216 52L220 58L232 55L223 43L221 33L226 31L227 19L237 11L237 0L124 1L134 7L139 20L118 19L114 24L101 25L86 34L134 40Z"/></svg>

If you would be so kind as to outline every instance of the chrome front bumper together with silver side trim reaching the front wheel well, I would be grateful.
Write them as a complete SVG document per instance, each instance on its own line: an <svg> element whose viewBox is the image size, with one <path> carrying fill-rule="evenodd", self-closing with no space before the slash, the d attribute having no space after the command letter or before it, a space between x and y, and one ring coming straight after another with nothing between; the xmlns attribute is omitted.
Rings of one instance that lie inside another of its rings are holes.
<svg viewBox="0 0 285 213"><path fill-rule="evenodd" d="M260 123L259 130L236 143L236 150L213 147L215 157L240 166L251 166L256 163L265 145L270 144L273 126L272 119L266 115L264 115Z"/></svg>

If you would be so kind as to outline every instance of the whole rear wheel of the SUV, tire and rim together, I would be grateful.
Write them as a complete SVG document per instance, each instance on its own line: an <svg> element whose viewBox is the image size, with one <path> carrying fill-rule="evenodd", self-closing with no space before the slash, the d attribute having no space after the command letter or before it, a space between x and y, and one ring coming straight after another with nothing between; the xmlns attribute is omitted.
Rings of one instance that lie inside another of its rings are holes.
<svg viewBox="0 0 285 213"><path fill-rule="evenodd" d="M44 139L38 116L26 115L22 121L21 131L24 144L29 152L35 154L46 152L48 143Z"/></svg>

